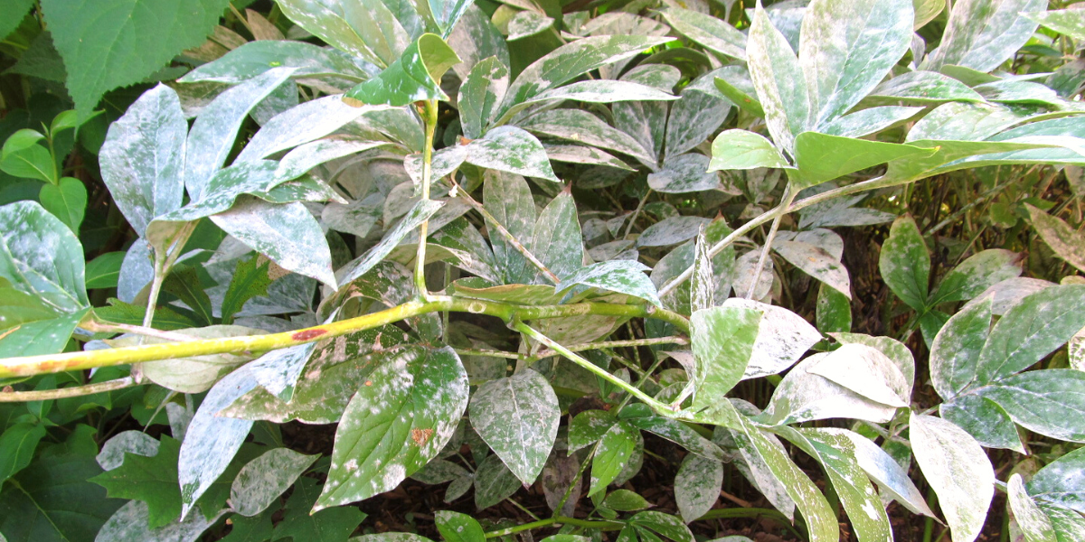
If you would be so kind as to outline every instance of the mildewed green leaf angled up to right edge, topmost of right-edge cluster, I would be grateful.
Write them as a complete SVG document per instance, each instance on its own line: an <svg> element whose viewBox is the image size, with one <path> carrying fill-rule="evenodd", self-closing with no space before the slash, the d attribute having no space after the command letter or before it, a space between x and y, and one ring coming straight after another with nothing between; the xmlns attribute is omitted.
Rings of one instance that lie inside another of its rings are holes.
<svg viewBox="0 0 1085 542"><path fill-rule="evenodd" d="M976 382L986 384L1029 367L1082 327L1085 286L1052 286L1025 297L991 330L980 352Z"/></svg>

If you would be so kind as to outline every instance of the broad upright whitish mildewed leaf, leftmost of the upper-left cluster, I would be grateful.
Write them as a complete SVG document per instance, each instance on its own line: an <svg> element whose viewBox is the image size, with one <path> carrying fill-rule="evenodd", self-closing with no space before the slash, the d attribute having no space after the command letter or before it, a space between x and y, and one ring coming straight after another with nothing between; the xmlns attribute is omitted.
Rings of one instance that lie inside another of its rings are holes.
<svg viewBox="0 0 1085 542"><path fill-rule="evenodd" d="M189 125L174 89L146 91L110 126L99 152L102 180L136 232L181 207Z"/></svg>

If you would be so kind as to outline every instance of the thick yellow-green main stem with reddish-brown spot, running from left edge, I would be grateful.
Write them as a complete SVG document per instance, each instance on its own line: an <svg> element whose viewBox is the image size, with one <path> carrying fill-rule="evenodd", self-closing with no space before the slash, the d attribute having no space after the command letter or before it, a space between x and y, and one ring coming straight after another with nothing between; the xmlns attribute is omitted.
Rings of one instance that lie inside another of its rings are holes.
<svg viewBox="0 0 1085 542"><path fill-rule="evenodd" d="M206 356L213 353L264 352L279 348L303 345L306 343L314 343L316 340L346 335L359 331L371 330L373 327L398 322L407 318L446 310L451 312L487 314L500 318L506 322L519 320L544 320L583 314L652 318L669 322L675 324L679 330L687 333L689 332L689 321L681 314L664 309L639 305L583 302L571 305L521 306L487 301L483 299L431 296L431 299L427 301L408 301L379 312L294 332L272 333L268 335L250 335L242 337L222 337L184 343L164 343L106 350L85 350L80 352L28 356L24 358L8 358L0 360L0 378L33 376L36 374L60 373L64 371L81 371L85 369L100 366L123 365L128 363L176 358L191 358L193 356Z"/></svg>

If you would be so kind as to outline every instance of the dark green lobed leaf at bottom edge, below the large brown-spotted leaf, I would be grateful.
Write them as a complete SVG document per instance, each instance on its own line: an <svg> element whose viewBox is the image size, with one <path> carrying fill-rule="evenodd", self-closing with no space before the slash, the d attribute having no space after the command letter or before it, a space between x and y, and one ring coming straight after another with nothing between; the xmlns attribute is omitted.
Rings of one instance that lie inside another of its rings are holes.
<svg viewBox="0 0 1085 542"><path fill-rule="evenodd" d="M366 514L353 506L311 512L314 503L319 502L319 495L320 482L312 478L298 478L294 492L286 501L286 513L276 525L271 540L345 540L366 519Z"/></svg>

